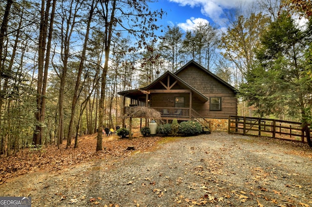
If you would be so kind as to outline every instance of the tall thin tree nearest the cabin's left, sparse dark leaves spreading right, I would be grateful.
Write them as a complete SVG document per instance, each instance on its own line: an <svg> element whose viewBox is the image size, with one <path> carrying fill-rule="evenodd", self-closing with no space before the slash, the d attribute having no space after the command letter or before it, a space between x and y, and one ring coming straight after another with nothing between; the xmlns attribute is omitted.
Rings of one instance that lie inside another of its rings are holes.
<svg viewBox="0 0 312 207"><path fill-rule="evenodd" d="M98 116L98 141L97 151L102 150L102 127L104 117L104 100L106 74L108 70L108 61L110 55L110 47L113 35L120 35L121 31L127 31L140 38L142 41L138 43L138 48L146 44L146 38L155 37L154 31L158 28L154 22L157 17L161 17L163 12L150 11L147 1L145 0L129 0L127 3L119 0L102 0L100 15L104 23L104 54L105 62L101 76L101 93L99 102Z"/></svg>

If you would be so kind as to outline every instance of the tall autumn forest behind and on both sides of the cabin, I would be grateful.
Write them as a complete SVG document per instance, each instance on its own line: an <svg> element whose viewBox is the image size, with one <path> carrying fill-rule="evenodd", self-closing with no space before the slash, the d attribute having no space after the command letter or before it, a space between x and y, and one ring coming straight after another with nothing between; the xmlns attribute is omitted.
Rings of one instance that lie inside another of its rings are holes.
<svg viewBox="0 0 312 207"><path fill-rule="evenodd" d="M311 123L311 1L260 0L229 13L226 29L202 23L187 32L157 25L165 14L149 3L0 1L1 155L78 147L79 136L97 131L101 150L102 127L121 124L117 92L190 60L240 91L239 115Z"/></svg>

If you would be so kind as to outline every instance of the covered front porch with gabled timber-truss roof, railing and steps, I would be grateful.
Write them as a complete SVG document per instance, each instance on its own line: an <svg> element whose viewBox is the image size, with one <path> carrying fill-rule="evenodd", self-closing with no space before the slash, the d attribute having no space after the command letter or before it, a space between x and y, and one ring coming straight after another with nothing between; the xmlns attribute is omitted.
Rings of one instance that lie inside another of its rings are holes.
<svg viewBox="0 0 312 207"><path fill-rule="evenodd" d="M149 86L121 91L118 94L123 96L124 117L132 116L132 112L136 110L133 107L146 106L158 111L162 120L166 122L173 119L197 120L204 127L209 125L193 108L193 105L201 107L209 99L169 71ZM126 98L130 99L130 102L126 101ZM129 106L126 106L126 103ZM137 117L143 118L145 115Z"/></svg>

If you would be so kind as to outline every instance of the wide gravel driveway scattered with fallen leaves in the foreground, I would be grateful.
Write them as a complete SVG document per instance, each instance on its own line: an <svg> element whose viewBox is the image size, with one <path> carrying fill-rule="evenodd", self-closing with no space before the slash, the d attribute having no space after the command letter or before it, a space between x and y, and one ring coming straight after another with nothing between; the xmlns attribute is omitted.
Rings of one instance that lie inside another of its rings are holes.
<svg viewBox="0 0 312 207"><path fill-rule="evenodd" d="M224 132L164 138L124 159L21 175L0 196L31 196L33 207L312 207L312 150Z"/></svg>

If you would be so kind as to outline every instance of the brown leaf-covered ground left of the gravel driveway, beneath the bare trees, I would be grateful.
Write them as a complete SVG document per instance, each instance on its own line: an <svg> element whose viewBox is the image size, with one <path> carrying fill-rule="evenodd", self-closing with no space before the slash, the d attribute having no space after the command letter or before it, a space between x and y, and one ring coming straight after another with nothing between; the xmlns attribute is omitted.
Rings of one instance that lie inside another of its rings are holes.
<svg viewBox="0 0 312 207"><path fill-rule="evenodd" d="M66 149L66 140L60 148L50 145L47 148L20 150L15 156L0 157L0 185L11 177L18 175L45 171L58 172L79 163L95 158L111 159L123 158L131 155L131 151L125 150L128 146L136 146L137 150L149 150L159 140L157 138L142 138L138 130L135 130L135 139L118 138L117 135L103 137L103 151L96 152L96 134L86 135L79 139L78 148L72 146ZM74 142L74 141L72 141Z"/></svg>

